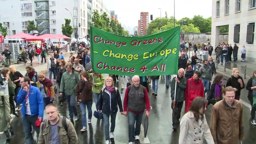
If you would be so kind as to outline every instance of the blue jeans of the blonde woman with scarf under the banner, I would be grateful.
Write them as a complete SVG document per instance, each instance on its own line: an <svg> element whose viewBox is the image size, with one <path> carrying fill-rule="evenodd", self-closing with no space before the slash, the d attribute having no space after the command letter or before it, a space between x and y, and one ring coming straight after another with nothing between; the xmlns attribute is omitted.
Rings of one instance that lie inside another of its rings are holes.
<svg viewBox="0 0 256 144"><path fill-rule="evenodd" d="M116 126L116 113L112 113L111 115L106 115L103 113L103 120L104 120L104 126L105 126L105 139L110 140L109 138L109 116L111 116L111 127L110 127L110 132L114 132L115 126Z"/></svg>

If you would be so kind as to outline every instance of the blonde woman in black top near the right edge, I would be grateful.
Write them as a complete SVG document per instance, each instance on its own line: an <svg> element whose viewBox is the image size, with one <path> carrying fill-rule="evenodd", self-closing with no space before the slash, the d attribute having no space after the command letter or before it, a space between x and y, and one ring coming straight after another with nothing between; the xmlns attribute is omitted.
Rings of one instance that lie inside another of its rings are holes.
<svg viewBox="0 0 256 144"><path fill-rule="evenodd" d="M226 87L231 86L235 90L235 100L240 99L241 90L245 87L242 76L239 75L239 69L232 69L232 76L228 79Z"/></svg>

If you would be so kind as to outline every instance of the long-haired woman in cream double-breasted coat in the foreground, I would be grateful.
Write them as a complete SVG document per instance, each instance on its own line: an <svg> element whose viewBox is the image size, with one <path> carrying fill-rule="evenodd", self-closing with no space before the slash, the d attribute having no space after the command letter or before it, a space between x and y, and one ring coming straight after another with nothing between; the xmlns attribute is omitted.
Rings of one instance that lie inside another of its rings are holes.
<svg viewBox="0 0 256 144"><path fill-rule="evenodd" d="M214 144L205 118L206 106L207 100L203 97L193 100L189 111L181 118L179 144L203 144L204 140L207 144Z"/></svg>

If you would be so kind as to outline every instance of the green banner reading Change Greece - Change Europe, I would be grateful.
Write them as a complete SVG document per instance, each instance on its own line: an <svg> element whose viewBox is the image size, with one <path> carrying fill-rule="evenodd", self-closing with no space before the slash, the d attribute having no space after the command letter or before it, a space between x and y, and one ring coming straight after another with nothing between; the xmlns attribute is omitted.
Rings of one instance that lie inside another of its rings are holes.
<svg viewBox="0 0 256 144"><path fill-rule="evenodd" d="M124 37L90 27L95 73L127 76L177 74L180 26L142 37Z"/></svg>

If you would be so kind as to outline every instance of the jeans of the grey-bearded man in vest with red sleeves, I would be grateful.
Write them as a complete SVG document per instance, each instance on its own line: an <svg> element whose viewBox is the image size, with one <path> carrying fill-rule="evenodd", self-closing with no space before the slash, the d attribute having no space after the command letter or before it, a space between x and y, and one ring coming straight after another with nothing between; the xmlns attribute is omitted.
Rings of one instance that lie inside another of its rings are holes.
<svg viewBox="0 0 256 144"><path fill-rule="evenodd" d="M129 142L134 142L134 136L140 135L140 126L142 122L143 113L128 112L128 132L129 132ZM135 125L136 122L136 125ZM135 128L134 128L135 125Z"/></svg>

